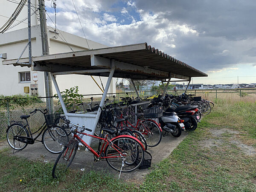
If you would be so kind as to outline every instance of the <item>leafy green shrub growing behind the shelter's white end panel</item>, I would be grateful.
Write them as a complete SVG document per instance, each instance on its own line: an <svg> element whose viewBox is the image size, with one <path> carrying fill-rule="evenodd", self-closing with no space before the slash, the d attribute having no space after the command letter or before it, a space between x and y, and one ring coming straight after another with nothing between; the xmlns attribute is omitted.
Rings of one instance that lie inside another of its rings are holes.
<svg viewBox="0 0 256 192"><path fill-rule="evenodd" d="M57 94L55 94L54 96L58 97ZM75 108L76 104L81 103L81 99L83 99L83 95L79 94L78 86L71 87L70 89L65 89L64 91L61 91L61 96L63 98L67 111L72 111L76 109ZM59 100L57 103L57 108L58 106L61 106L61 103ZM59 108L57 112L63 113L63 109Z"/></svg>

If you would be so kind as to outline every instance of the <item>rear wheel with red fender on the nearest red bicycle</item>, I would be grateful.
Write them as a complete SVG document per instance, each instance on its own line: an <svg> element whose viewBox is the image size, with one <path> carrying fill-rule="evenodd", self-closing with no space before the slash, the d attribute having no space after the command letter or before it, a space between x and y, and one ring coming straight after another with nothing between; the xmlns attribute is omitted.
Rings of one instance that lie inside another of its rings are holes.
<svg viewBox="0 0 256 192"><path fill-rule="evenodd" d="M143 145L136 138L118 136L111 140L111 143L113 145L107 145L105 149L105 157L107 157L106 161L108 165L116 171L132 172L143 162ZM117 149L119 151L117 151ZM119 152L121 152L124 157L116 157L119 156Z"/></svg>

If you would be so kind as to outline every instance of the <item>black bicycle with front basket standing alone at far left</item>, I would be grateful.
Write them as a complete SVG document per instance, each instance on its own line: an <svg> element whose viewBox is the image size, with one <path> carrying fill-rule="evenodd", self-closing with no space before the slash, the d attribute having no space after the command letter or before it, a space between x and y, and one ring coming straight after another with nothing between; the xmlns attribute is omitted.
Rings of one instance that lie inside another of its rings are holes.
<svg viewBox="0 0 256 192"><path fill-rule="evenodd" d="M44 114L45 122L43 125L35 131L35 133L32 133L28 123L30 115L22 115L20 118L26 120L26 124L23 121L14 121L14 123L6 130L7 142L13 149L20 151L26 148L28 144L32 145L35 141L39 141L44 144L44 147L49 152L58 154L62 151L66 142L68 142L67 132L56 125L59 122L60 116L56 114L47 114L47 109L44 111L35 109L30 112L30 114L34 115L38 111ZM38 135L33 137L36 133L38 133ZM38 137L41 134L42 138L41 140L38 140Z"/></svg>

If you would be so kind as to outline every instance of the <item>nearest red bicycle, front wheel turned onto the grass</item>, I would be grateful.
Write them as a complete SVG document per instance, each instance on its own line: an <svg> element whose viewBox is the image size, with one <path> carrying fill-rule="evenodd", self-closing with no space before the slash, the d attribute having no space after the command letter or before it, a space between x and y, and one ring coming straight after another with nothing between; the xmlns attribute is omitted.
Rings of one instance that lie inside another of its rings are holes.
<svg viewBox="0 0 256 192"><path fill-rule="evenodd" d="M113 129L102 129L106 132L104 138L84 133L85 130L92 131L84 126L76 125L69 120L66 122L70 125L73 137L65 145L59 154L52 169L52 177L58 178L65 174L68 167L75 158L79 142L93 153L96 161L106 160L111 168L120 172L131 172L137 169L144 159L145 148L142 143L135 137L129 135L119 135L108 140L108 134L113 134ZM94 151L84 140L83 136L93 137L99 140L98 151ZM104 134L102 134L104 135ZM103 144L101 145L101 143Z"/></svg>

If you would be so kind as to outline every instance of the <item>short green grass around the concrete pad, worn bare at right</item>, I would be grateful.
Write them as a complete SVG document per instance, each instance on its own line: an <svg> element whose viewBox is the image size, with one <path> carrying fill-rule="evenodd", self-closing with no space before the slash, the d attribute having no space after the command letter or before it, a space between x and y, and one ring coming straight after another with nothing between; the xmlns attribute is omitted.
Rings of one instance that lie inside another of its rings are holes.
<svg viewBox="0 0 256 192"><path fill-rule="evenodd" d="M54 180L52 164L0 151L4 191L256 191L256 103L217 99L198 128L154 165L143 183L102 172L70 170ZM171 138L170 138L171 139ZM241 144L241 145L239 145ZM244 147L243 150L241 146ZM247 153L246 150L250 153ZM153 156L154 158L154 156ZM20 181L22 180L22 181Z"/></svg>

